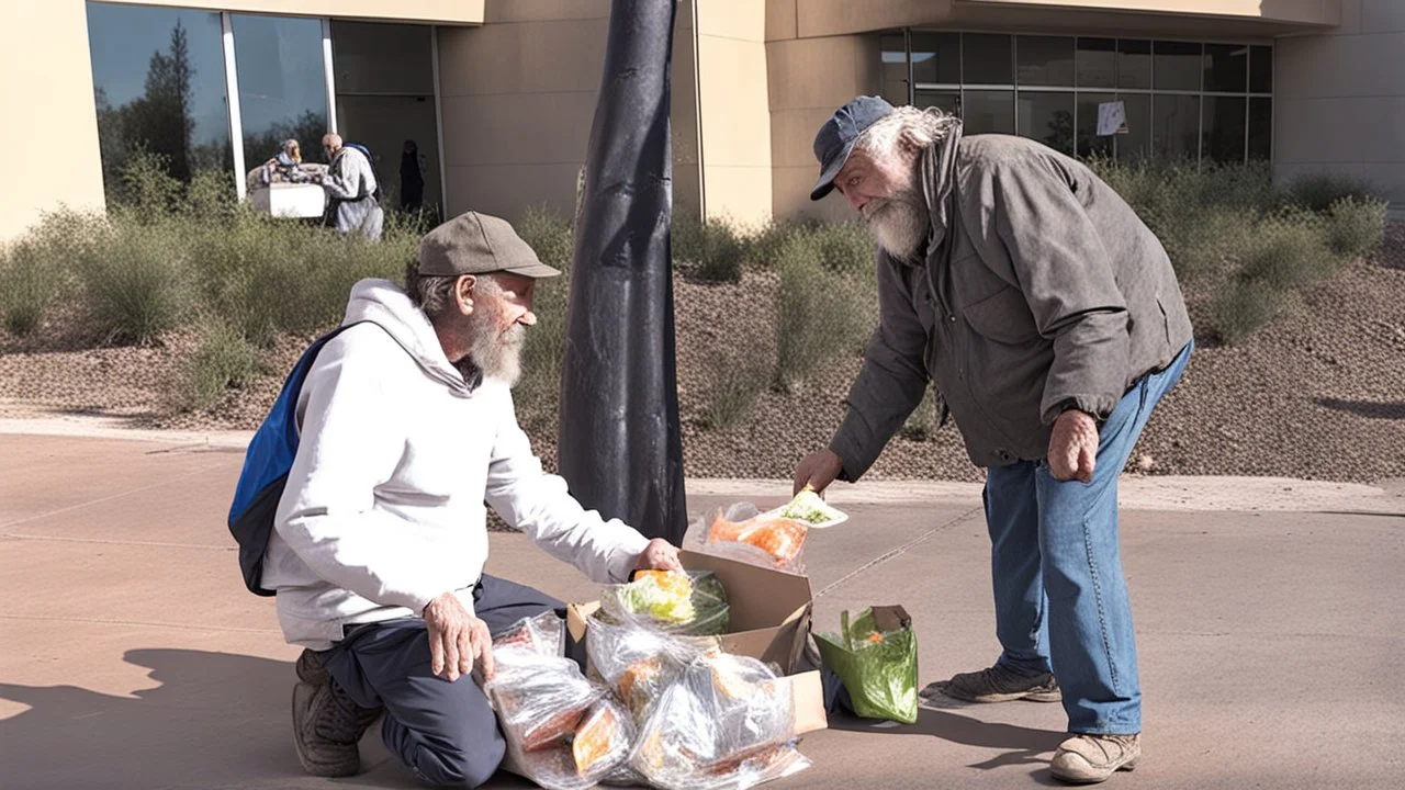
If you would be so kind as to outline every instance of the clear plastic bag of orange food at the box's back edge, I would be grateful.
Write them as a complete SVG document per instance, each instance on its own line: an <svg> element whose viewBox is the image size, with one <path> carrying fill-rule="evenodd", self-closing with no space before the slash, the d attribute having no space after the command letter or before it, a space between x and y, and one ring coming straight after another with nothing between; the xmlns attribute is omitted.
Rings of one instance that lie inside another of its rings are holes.
<svg viewBox="0 0 1405 790"><path fill-rule="evenodd" d="M684 544L749 565L804 574L808 536L809 524L805 522L760 513L750 502L740 502L694 522Z"/></svg>

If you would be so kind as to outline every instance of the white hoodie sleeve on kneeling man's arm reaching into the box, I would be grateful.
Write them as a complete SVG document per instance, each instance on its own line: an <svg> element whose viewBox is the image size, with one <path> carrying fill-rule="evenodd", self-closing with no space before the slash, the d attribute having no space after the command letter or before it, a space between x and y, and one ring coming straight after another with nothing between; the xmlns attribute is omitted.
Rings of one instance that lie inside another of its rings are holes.
<svg viewBox="0 0 1405 790"><path fill-rule="evenodd" d="M502 427L488 468L488 505L547 554L569 562L594 582L625 582L649 538L618 519L586 510L548 475L517 425L511 394L503 391Z"/></svg>

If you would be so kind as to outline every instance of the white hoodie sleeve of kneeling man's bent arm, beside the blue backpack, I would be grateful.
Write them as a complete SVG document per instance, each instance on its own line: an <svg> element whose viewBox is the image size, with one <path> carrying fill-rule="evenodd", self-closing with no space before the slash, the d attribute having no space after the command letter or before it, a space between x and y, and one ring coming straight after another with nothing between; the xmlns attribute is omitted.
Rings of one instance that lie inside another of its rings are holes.
<svg viewBox="0 0 1405 790"><path fill-rule="evenodd" d="M402 538L413 524L374 507L377 486L391 479L405 450L400 408L386 396L375 353L384 344L403 354L382 329L365 325L318 354L303 384L302 437L274 529L318 576L381 606L419 613L457 585L409 554L414 544Z"/></svg>

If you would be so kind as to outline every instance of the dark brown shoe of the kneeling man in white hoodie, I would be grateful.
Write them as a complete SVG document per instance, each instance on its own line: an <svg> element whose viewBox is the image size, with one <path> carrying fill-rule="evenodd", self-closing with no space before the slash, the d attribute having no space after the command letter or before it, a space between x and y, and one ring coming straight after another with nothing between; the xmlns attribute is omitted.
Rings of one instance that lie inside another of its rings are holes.
<svg viewBox="0 0 1405 790"><path fill-rule="evenodd" d="M302 769L312 776L360 773L361 751L357 742L379 715L381 708L355 704L330 676L325 683L303 680L294 686L292 742Z"/></svg>

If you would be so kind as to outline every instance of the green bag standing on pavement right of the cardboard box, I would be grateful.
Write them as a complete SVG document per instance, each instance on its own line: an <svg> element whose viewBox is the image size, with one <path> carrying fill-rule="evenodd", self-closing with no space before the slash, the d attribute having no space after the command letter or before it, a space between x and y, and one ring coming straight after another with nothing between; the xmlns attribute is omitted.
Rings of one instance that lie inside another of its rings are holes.
<svg viewBox="0 0 1405 790"><path fill-rule="evenodd" d="M901 606L874 606L851 623L839 616L839 634L815 634L819 655L849 692L864 718L917 721L917 634Z"/></svg>

